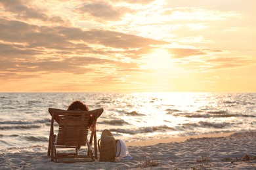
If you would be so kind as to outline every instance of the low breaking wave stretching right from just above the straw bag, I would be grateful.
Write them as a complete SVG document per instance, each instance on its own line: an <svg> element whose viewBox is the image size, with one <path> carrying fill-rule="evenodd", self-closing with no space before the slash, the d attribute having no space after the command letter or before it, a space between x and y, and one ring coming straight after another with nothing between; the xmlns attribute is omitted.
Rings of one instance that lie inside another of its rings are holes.
<svg viewBox="0 0 256 170"><path fill-rule="evenodd" d="M152 127L140 127L139 129L110 129L110 131L115 131L117 133L127 133L127 134L139 134L139 133L152 133L154 131L167 131L174 130L173 127L168 126L152 126Z"/></svg>

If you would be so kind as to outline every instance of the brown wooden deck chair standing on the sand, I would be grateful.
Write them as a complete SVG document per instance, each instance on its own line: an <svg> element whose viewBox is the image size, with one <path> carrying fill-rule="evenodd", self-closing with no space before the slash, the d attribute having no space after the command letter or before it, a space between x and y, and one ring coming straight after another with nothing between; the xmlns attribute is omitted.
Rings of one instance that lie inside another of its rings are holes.
<svg viewBox="0 0 256 170"><path fill-rule="evenodd" d="M102 114L103 109L82 111L49 108L49 112L52 115L48 146L48 156L51 155L51 161L75 162L97 159L96 119L98 115ZM56 119L58 119L58 135L54 135L54 120ZM87 136L90 119L94 121L89 141ZM91 148L93 141L94 153ZM83 152L83 154L80 150L78 152L80 146L87 146L87 152ZM70 152L70 149L73 152Z"/></svg>

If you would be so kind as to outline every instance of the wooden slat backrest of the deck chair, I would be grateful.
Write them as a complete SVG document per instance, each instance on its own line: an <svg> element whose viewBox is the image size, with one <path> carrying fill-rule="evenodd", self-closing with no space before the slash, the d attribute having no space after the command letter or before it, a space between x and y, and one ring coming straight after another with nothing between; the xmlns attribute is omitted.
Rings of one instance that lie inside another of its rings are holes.
<svg viewBox="0 0 256 170"><path fill-rule="evenodd" d="M85 146L92 112L56 111L60 118L56 145Z"/></svg>

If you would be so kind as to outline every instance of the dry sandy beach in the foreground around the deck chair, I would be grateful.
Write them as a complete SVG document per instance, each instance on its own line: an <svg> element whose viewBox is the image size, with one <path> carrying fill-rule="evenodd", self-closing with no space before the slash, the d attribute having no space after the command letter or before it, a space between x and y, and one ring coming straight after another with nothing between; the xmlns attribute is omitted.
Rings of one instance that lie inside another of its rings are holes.
<svg viewBox="0 0 256 170"><path fill-rule="evenodd" d="M127 143L133 160L54 163L45 146L2 150L0 169L256 169L256 131ZM146 161L145 161L146 160Z"/></svg>

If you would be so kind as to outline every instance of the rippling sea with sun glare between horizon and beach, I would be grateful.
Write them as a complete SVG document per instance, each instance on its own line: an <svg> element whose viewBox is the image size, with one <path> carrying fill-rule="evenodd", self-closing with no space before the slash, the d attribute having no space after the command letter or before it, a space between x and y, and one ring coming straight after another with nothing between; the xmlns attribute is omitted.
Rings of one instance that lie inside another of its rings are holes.
<svg viewBox="0 0 256 170"><path fill-rule="evenodd" d="M48 109L76 100L104 109L97 139L104 129L125 142L256 130L256 93L0 93L0 150L47 146Z"/></svg>

